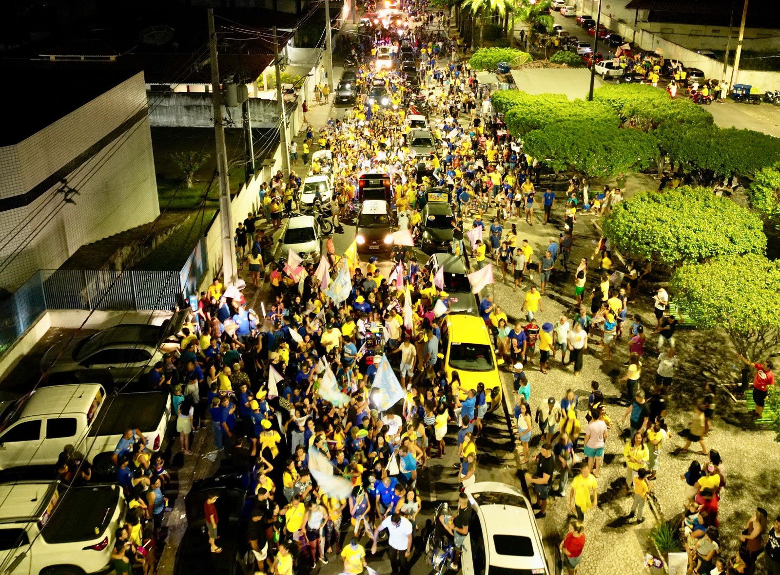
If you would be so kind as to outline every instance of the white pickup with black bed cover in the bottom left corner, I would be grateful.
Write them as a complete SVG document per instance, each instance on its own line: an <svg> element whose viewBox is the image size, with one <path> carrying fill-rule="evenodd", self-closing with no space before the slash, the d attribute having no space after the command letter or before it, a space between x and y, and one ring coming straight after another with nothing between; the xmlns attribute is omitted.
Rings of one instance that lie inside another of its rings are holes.
<svg viewBox="0 0 780 575"><path fill-rule="evenodd" d="M0 573L84 575L110 569L125 517L119 485L0 484Z"/></svg>

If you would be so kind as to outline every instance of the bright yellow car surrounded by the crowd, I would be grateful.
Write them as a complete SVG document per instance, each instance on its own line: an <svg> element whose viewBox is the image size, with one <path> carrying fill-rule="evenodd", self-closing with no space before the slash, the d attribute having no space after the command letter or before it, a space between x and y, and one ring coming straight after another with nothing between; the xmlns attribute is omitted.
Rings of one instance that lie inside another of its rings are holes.
<svg viewBox="0 0 780 575"><path fill-rule="evenodd" d="M442 326L441 339L447 379L452 379L452 372L458 372L460 399L466 399L466 391L476 390L478 383L484 383L488 411L497 409L502 398L501 374L483 319L450 314Z"/></svg>

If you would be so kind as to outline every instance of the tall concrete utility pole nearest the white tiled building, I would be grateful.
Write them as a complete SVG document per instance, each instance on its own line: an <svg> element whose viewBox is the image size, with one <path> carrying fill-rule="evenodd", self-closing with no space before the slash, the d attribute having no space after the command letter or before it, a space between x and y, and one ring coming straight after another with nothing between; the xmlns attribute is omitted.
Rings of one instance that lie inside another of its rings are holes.
<svg viewBox="0 0 780 575"><path fill-rule="evenodd" d="M217 61L217 32L214 27L214 10L208 9L208 44L211 50L211 105L214 114L214 135L217 144L217 178L219 180L219 211L222 213L222 276L225 284L235 284L236 249L233 248L233 218L230 213L230 178L228 153L225 150L225 126L222 124L222 90L219 84Z"/></svg>

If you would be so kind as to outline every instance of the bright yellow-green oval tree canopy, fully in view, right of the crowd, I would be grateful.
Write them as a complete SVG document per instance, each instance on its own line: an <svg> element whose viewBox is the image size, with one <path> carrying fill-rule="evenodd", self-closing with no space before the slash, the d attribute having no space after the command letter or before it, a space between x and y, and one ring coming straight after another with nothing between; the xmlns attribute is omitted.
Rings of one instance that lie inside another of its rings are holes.
<svg viewBox="0 0 780 575"><path fill-rule="evenodd" d="M711 189L640 192L615 206L602 224L621 252L666 266L763 254L767 248L761 218Z"/></svg>

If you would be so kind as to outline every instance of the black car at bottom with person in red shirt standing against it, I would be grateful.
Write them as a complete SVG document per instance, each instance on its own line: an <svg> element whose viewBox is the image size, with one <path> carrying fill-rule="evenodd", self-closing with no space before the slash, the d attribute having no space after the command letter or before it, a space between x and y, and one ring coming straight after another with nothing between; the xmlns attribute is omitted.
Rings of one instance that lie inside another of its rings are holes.
<svg viewBox="0 0 780 575"><path fill-rule="evenodd" d="M218 546L209 549L204 503L209 494L218 496ZM176 550L174 575L244 575L254 573L257 564L246 539L246 478L230 474L193 482L184 499L187 528Z"/></svg>

